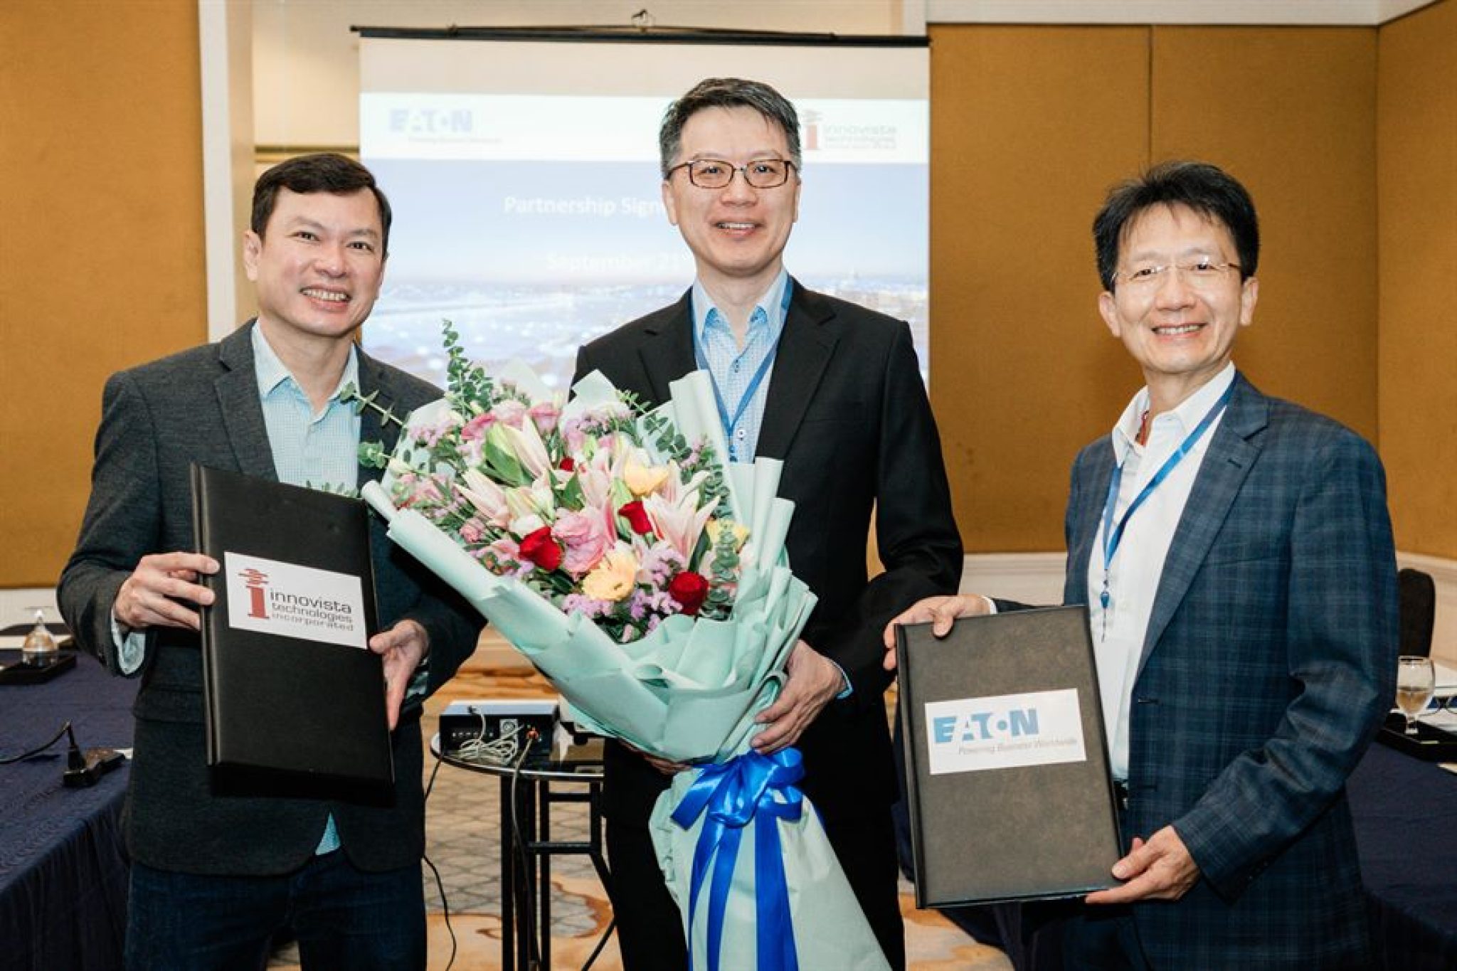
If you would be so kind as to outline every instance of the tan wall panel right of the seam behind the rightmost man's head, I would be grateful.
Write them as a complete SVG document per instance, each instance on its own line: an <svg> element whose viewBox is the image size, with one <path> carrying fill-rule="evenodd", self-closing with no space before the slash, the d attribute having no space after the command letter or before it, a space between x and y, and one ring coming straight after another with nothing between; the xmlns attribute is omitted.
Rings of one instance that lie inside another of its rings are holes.
<svg viewBox="0 0 1457 971"><path fill-rule="evenodd" d="M1155 28L1152 159L1214 162L1260 214L1236 362L1375 440L1375 31Z"/></svg>

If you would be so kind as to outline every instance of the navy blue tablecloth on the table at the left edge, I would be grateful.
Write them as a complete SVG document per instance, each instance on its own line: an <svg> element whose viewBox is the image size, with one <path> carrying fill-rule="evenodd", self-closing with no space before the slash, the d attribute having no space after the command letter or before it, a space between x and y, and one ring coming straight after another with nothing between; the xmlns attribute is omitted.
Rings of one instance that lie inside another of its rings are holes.
<svg viewBox="0 0 1457 971"><path fill-rule="evenodd" d="M0 686L0 757L35 748L66 721L82 748L127 748L136 693L136 681L86 655L47 684ZM64 738L44 756L0 766L0 971L121 967L130 764L85 789L66 789L64 769Z"/></svg>

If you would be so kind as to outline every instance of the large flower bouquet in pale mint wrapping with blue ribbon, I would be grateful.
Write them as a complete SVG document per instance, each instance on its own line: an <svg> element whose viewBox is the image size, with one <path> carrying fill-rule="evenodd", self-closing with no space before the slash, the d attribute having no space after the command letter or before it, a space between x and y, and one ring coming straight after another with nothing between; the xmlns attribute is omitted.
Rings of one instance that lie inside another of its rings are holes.
<svg viewBox="0 0 1457 971"><path fill-rule="evenodd" d="M747 744L814 607L784 553L779 463L723 461L704 373L644 413L600 374L561 403L525 365L471 364L449 323L444 344L446 396L409 416L393 454L361 445L386 470L363 495L390 539L526 654L578 725L702 764L654 812L695 967L884 968L794 786L798 753ZM737 852L747 833L758 860ZM794 933L810 926L835 933Z"/></svg>

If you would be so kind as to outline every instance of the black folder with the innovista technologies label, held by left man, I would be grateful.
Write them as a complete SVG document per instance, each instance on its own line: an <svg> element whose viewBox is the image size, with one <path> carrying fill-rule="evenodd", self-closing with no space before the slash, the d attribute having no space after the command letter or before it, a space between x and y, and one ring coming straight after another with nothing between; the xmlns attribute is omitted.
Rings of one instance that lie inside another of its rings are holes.
<svg viewBox="0 0 1457 971"><path fill-rule="evenodd" d="M192 520L221 563L201 610L208 766L392 783L364 504L194 464Z"/></svg>

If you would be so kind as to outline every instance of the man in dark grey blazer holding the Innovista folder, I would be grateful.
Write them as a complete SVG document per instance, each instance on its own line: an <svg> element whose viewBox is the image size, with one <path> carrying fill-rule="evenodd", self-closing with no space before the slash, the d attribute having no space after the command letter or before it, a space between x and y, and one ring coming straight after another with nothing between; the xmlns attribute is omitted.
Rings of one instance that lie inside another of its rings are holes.
<svg viewBox="0 0 1457 971"><path fill-rule="evenodd" d="M354 346L379 296L390 211L367 169L293 159L254 191L243 261L258 319L219 344L114 374L92 496L61 575L61 611L109 670L140 675L131 788L127 967L262 968L290 927L305 968L423 968L420 699L475 648L479 620L372 528L395 758L388 799L223 790L204 751L198 584L188 469L357 486L361 440L390 438L339 392L399 415L440 392Z"/></svg>

